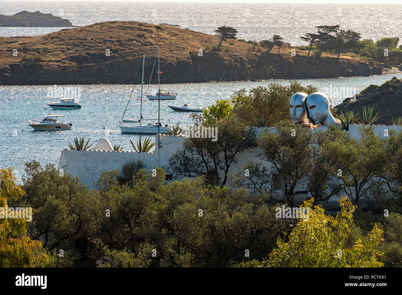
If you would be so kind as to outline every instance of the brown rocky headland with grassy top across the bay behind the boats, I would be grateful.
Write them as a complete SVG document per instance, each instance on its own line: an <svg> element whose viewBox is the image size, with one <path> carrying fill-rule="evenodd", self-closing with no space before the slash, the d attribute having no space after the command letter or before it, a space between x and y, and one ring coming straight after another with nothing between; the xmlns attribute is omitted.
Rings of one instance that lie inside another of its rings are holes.
<svg viewBox="0 0 402 295"><path fill-rule="evenodd" d="M43 36L3 37L0 84L133 83L142 55L152 68L158 45L162 83L381 74L381 69L357 59L316 59L301 51L292 56L290 48L250 52L250 45L238 40L225 41L216 52L212 49L217 41L217 36L140 22L102 22ZM145 71L145 81L149 74Z"/></svg>

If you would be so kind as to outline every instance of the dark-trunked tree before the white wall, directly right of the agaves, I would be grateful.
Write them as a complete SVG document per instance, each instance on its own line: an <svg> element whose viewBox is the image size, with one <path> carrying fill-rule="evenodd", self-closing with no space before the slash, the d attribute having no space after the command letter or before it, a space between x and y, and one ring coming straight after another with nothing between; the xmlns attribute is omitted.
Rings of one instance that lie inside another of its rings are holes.
<svg viewBox="0 0 402 295"><path fill-rule="evenodd" d="M214 185L223 187L230 166L237 163L237 154L255 146L255 131L247 129L233 114L219 120L215 116L207 119L203 115L192 116L195 129L209 128L209 134L214 130L216 138L204 138L207 137L204 134L186 138L183 147L170 157L168 170L176 179L205 176ZM221 173L224 174L222 184L219 183Z"/></svg>

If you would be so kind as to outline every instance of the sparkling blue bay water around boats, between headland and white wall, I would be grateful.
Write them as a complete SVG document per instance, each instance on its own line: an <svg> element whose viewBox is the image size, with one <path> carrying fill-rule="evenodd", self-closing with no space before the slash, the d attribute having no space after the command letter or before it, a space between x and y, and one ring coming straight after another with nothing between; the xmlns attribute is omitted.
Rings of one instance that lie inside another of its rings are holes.
<svg viewBox="0 0 402 295"><path fill-rule="evenodd" d="M343 99L359 93L370 84L381 85L395 75L379 75L371 77L348 77L336 79L299 80L302 85L313 85L319 91L325 91L333 102L339 104ZM402 75L396 75L401 78ZM217 99L230 98L234 91L242 88L250 89L269 83L289 85L289 80L260 82L219 82L219 83L186 83L164 84L163 89L178 93L176 100L160 102L160 118L162 124L180 122L182 126L191 125L189 113L174 112L168 105L183 106L189 103L195 107L207 107ZM24 173L24 162L38 160L42 165L53 163L56 166L63 149L68 142L74 145L75 136L85 136L95 146L97 140L106 137L111 144L119 144L126 151L133 151L129 139L139 139L134 134L121 134L119 122L127 105L133 85L64 85L79 87L80 110L51 110L47 104L58 98L49 98L48 88L51 86L0 86L0 167L15 168L14 174L21 179ZM158 85L151 85L150 92ZM145 87L147 88L147 87ZM146 90L146 89L145 89ZM145 92L144 90L144 92ZM329 93L331 90L331 93ZM78 93L76 91L75 93ZM145 93L144 93L145 94ZM345 94L348 94L345 96ZM350 94L350 95L349 95ZM139 118L140 100L139 85L135 86L130 100L126 119ZM158 119L158 101L149 101L145 95L142 114L144 119ZM60 122L72 123L71 130L65 131L33 131L28 120L40 121L53 112L61 114ZM170 119L170 121L168 121ZM135 124L135 123L122 123Z"/></svg>

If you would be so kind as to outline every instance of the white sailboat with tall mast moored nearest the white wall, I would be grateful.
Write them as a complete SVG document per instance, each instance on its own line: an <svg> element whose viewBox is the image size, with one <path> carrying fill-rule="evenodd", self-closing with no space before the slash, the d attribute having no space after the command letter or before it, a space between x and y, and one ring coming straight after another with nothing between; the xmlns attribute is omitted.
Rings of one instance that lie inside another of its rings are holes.
<svg viewBox="0 0 402 295"><path fill-rule="evenodd" d="M159 68L159 60L160 53L158 47L158 68ZM143 94L143 85L144 85L144 65L145 65L145 55L142 57L142 83L141 83L141 105L139 107L139 119L135 120L135 122L139 122L139 125L134 126L120 126L121 133L131 133L131 134L168 134L171 131L170 127L166 124L162 127L160 120L158 119L158 123L148 123L143 124L142 121L154 121L156 119L144 119L142 118L142 94ZM159 71L158 71L159 72ZM159 93L160 93L160 86ZM131 97L130 97L131 98ZM124 116L124 114L123 114ZM126 120L127 122L128 120ZM133 122L134 120L129 120L128 122Z"/></svg>

